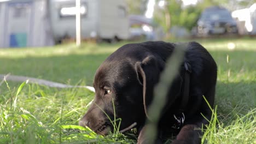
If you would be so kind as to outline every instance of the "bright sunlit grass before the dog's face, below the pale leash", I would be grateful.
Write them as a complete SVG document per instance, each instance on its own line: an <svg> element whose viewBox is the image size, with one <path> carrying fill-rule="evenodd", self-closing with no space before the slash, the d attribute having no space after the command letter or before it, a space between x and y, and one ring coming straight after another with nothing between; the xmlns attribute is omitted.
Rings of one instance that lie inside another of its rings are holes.
<svg viewBox="0 0 256 144"><path fill-rule="evenodd" d="M132 142L123 134L103 137L77 125L92 99L86 89L49 89L25 82L16 89L5 84L9 92L1 94L5 101L0 103L0 143Z"/></svg>

